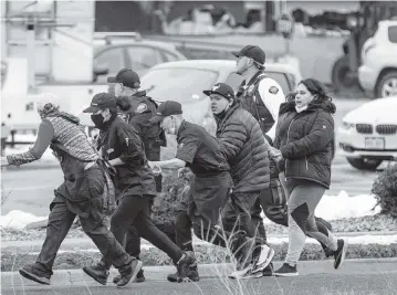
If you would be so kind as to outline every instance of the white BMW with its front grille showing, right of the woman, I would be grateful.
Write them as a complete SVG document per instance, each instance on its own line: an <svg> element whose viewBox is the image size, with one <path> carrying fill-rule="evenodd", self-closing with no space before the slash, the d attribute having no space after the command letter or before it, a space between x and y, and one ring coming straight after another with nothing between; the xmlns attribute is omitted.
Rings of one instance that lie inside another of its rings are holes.
<svg viewBox="0 0 397 295"><path fill-rule="evenodd" d="M338 129L339 147L359 170L376 170L397 159L397 96L365 103L348 113Z"/></svg>

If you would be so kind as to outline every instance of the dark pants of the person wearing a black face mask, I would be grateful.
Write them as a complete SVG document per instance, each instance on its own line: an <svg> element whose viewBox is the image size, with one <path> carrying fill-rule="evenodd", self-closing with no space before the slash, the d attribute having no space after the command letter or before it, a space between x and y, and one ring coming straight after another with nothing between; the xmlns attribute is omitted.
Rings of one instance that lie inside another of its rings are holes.
<svg viewBox="0 0 397 295"><path fill-rule="evenodd" d="M128 191L122 196L116 211L111 219L111 231L119 243L123 243L128 228L133 225L137 234L153 245L168 254L177 263L182 252L168 239L168 236L156 228L150 219L149 202L150 196L128 194ZM105 262L103 260L103 262ZM105 262L106 263L106 262ZM107 268L111 264L106 263Z"/></svg>

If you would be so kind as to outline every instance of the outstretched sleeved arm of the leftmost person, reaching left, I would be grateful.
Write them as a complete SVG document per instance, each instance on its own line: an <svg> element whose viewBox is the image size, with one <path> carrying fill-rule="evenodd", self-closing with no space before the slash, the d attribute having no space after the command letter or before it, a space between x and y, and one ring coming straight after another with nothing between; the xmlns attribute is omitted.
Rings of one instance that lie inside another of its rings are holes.
<svg viewBox="0 0 397 295"><path fill-rule="evenodd" d="M54 137L54 127L48 119L43 119L39 126L38 139L34 146L25 152L7 156L9 165L20 166L39 160Z"/></svg>

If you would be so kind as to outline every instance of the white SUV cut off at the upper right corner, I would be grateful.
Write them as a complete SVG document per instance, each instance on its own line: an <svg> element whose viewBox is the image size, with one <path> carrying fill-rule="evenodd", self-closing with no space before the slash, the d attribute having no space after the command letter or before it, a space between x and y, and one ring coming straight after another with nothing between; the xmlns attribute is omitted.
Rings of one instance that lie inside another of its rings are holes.
<svg viewBox="0 0 397 295"><path fill-rule="evenodd" d="M362 50L362 87L375 97L397 96L397 20L379 21Z"/></svg>

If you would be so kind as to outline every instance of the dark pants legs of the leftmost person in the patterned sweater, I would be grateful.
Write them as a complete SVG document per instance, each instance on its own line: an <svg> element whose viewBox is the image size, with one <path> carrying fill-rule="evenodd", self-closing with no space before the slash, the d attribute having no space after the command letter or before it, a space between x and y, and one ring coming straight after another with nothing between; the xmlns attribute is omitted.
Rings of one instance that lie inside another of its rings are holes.
<svg viewBox="0 0 397 295"><path fill-rule="evenodd" d="M83 231L95 243L108 265L113 264L116 268L128 265L132 259L103 224L103 217L100 213L94 213L95 208L93 209L88 218L80 218ZM35 262L38 268L52 274L56 253L75 217L76 214L67 209L65 202L52 203L45 240Z"/></svg>

